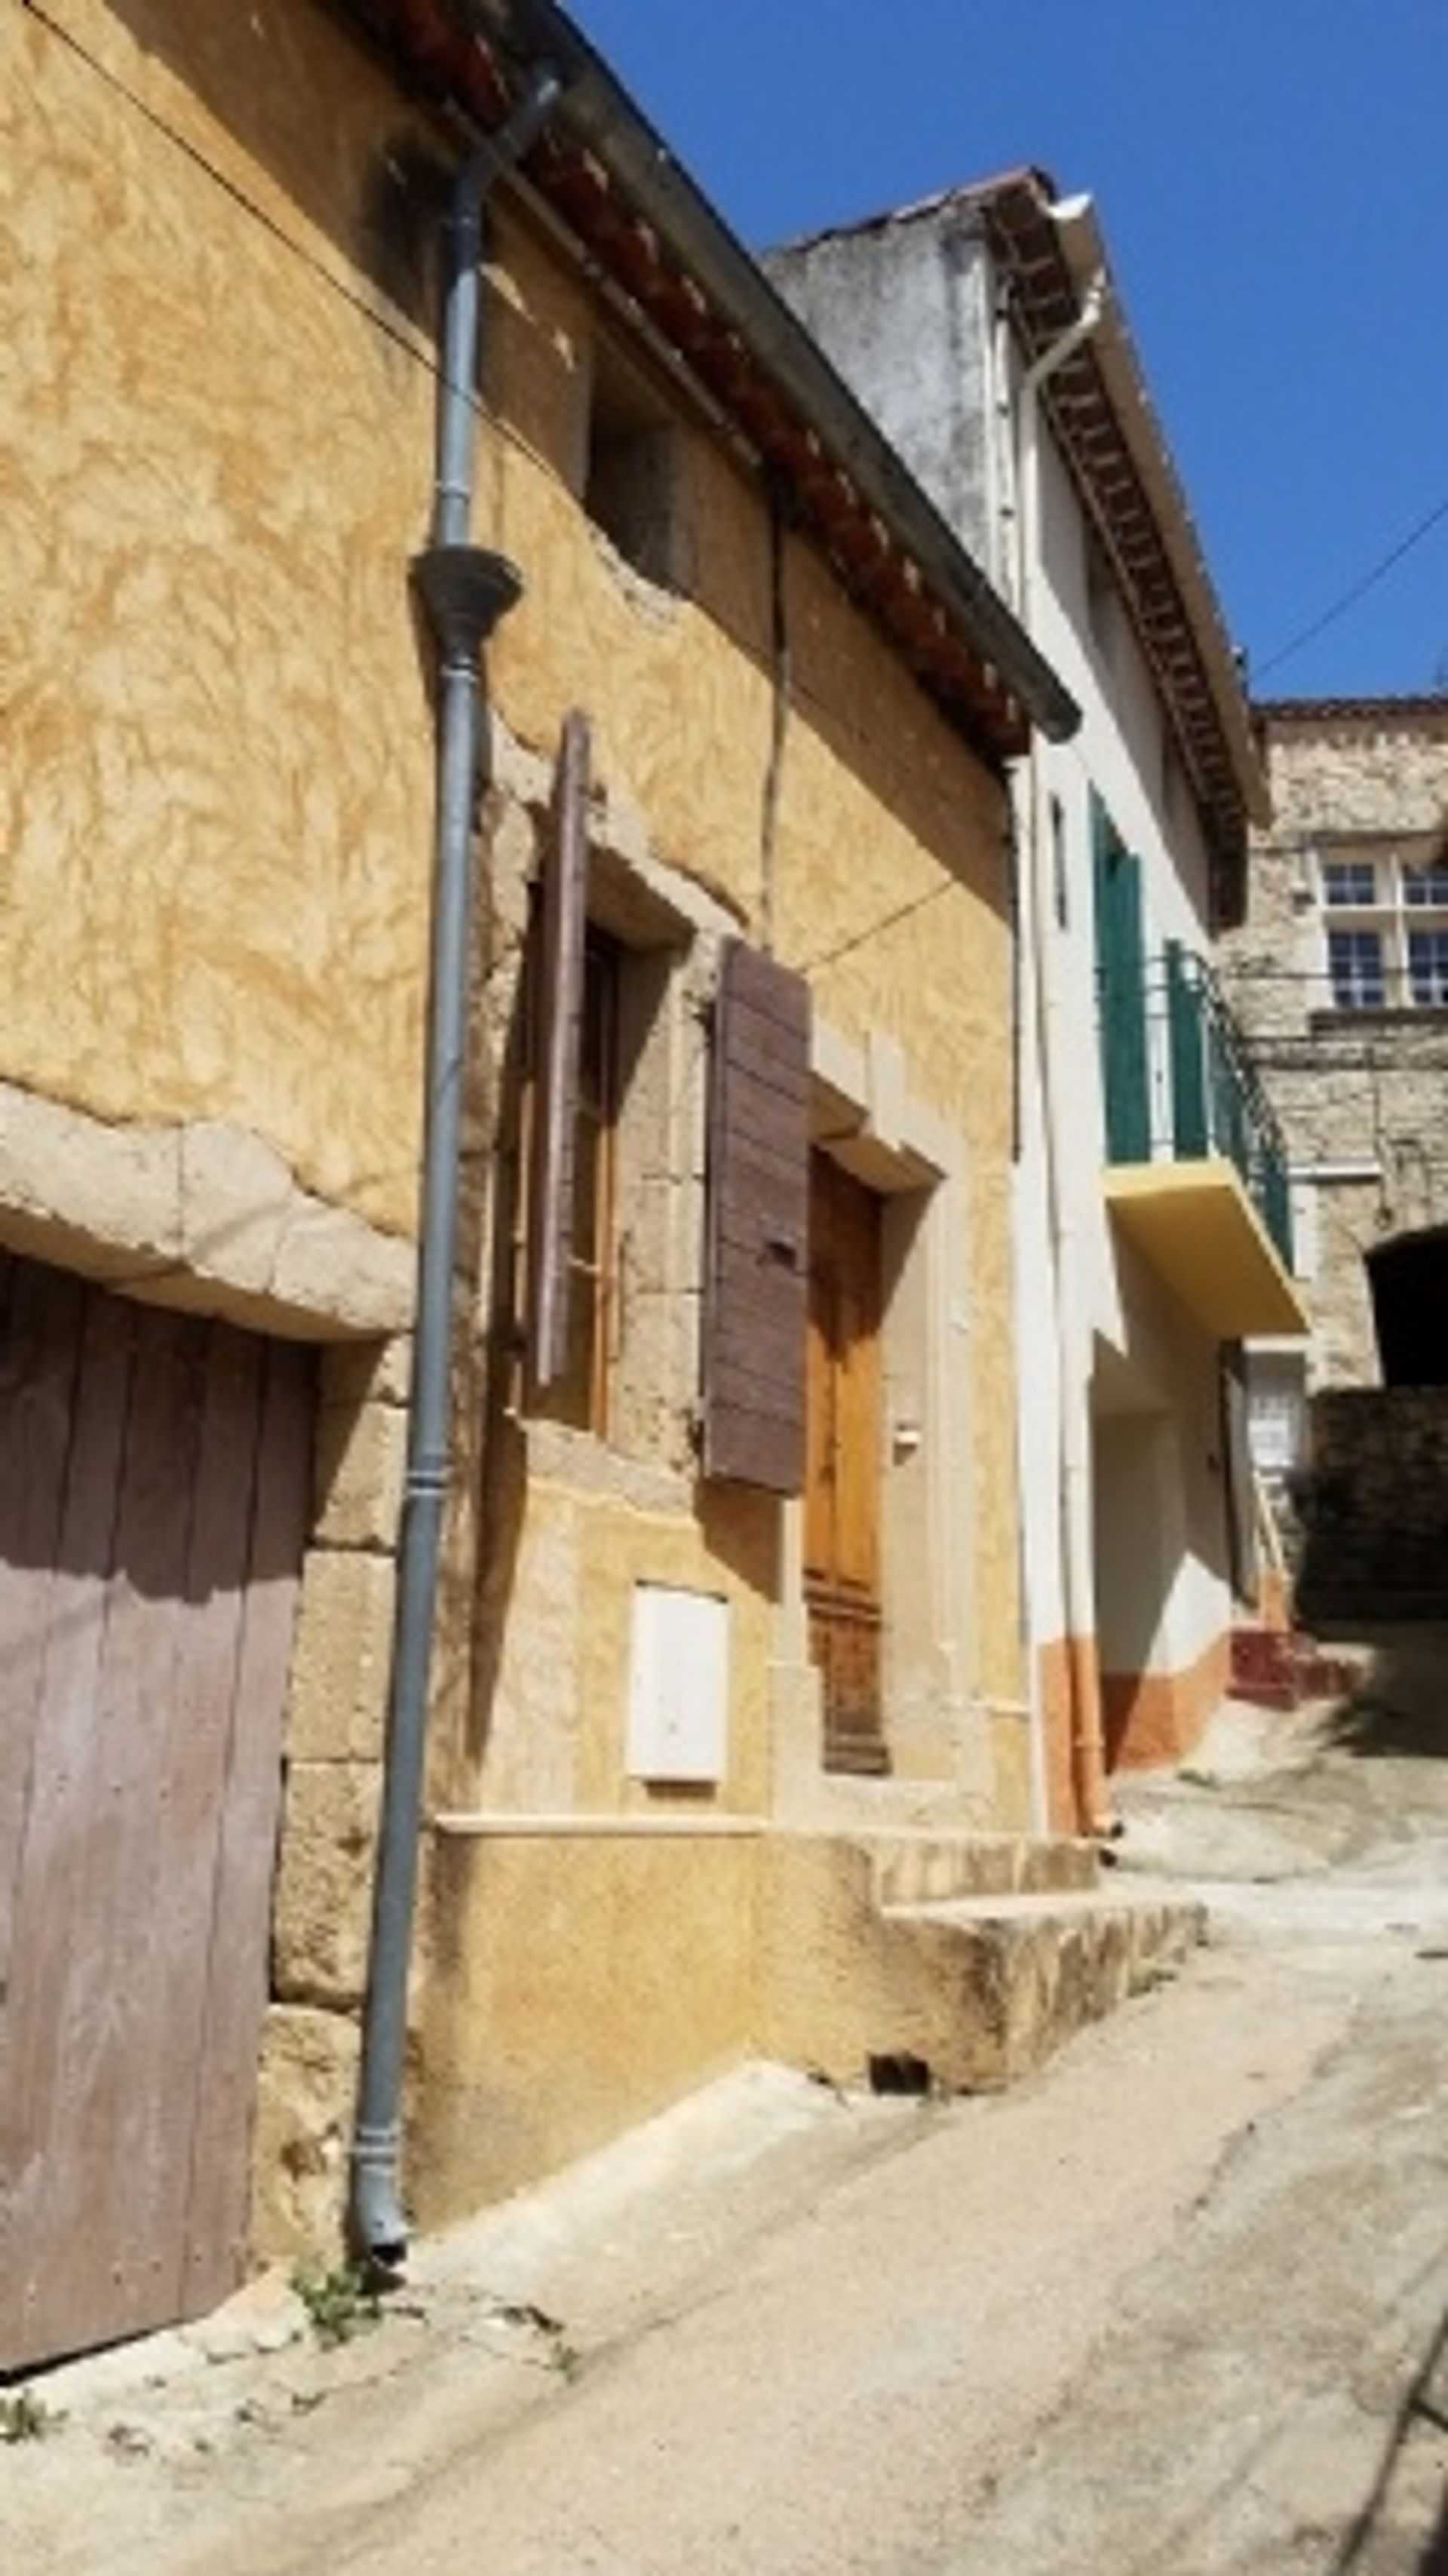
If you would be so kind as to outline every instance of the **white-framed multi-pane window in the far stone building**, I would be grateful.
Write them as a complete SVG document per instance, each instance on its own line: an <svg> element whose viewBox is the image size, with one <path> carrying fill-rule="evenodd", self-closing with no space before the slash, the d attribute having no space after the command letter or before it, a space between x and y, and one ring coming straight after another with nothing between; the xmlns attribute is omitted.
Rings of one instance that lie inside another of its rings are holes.
<svg viewBox="0 0 1448 2576"><path fill-rule="evenodd" d="M1332 1010L1448 1010L1448 853L1433 840L1319 850Z"/></svg>

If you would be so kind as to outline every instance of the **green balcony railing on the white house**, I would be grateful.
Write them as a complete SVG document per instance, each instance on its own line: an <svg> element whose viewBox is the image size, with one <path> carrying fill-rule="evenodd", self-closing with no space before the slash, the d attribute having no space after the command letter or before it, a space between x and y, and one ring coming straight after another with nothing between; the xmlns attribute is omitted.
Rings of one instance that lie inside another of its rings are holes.
<svg viewBox="0 0 1448 2576"><path fill-rule="evenodd" d="M1234 1162L1291 1273L1283 1136L1211 966L1167 940L1139 979L1103 976L1100 1015L1108 1159Z"/></svg>

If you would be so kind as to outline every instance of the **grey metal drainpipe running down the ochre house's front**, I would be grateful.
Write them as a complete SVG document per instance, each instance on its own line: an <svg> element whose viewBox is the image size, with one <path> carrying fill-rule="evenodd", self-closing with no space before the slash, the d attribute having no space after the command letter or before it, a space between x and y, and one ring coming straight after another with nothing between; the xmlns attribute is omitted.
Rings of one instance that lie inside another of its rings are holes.
<svg viewBox="0 0 1448 2576"><path fill-rule="evenodd" d="M423 1824L423 1754L438 1607L438 1556L448 1499L448 1378L466 1072L472 822L482 744L482 657L492 629L523 592L518 569L502 554L490 554L469 544L482 304L477 273L482 260L482 201L495 178L528 149L559 98L559 88L562 82L551 70L538 70L508 124L477 147L453 180L443 234L446 301L433 541L412 564L412 580L438 641L428 1113L397 1623L392 1633L392 1690L348 2208L356 2254L384 2269L397 2269L407 2254L407 2218L399 2195L402 2058L407 2045L407 1971L417 1901L417 1834Z"/></svg>

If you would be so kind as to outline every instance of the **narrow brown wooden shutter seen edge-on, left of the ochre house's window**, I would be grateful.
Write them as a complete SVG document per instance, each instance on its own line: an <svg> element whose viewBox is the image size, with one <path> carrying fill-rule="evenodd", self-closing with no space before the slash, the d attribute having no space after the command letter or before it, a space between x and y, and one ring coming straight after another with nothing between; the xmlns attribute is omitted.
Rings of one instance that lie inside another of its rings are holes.
<svg viewBox="0 0 1448 2576"><path fill-rule="evenodd" d="M528 1177L528 1376L554 1386L569 1355L577 1056L587 930L587 716L564 716L554 829L544 853Z"/></svg>

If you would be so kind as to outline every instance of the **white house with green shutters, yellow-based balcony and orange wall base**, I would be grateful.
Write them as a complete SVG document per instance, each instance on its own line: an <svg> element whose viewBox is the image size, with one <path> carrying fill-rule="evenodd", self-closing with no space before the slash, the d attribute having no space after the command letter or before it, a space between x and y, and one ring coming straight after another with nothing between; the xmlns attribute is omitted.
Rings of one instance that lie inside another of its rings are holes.
<svg viewBox="0 0 1448 2576"><path fill-rule="evenodd" d="M770 276L1082 708L1018 770L1025 1597L1051 1811L1190 1749L1255 1600L1242 1342L1304 1329L1211 969L1265 778L1090 198L1038 170Z"/></svg>

